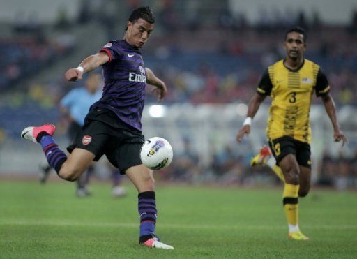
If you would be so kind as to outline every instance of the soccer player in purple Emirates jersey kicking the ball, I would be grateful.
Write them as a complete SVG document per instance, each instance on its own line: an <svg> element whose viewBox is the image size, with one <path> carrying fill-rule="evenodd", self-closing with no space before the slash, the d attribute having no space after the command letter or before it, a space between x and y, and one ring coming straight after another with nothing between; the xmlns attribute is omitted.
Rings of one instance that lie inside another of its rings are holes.
<svg viewBox="0 0 357 259"><path fill-rule="evenodd" d="M22 138L38 142L47 162L59 177L75 181L92 161L105 154L121 174L126 174L139 192L140 214L139 244L158 249L174 249L160 242L155 235L157 209L153 171L142 165L139 157L144 143L142 135L142 110L146 82L155 86L158 100L167 92L165 83L145 68L139 51L153 31L155 17L149 6L132 11L123 40L112 40L98 53L93 54L77 68L66 71L66 79L77 81L83 73L102 66L105 86L102 98L91 106L83 126L73 145L67 149L70 155L54 142L52 124L27 127Z"/></svg>

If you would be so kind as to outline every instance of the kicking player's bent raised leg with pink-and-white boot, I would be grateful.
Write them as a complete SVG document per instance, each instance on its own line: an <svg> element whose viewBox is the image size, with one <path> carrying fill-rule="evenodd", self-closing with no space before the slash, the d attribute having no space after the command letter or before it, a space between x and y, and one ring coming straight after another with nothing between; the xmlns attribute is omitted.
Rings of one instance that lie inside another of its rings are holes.
<svg viewBox="0 0 357 259"><path fill-rule="evenodd" d="M91 165L94 154L84 149L75 149L67 157L52 138L54 131L55 127L52 124L30 126L22 131L21 137L40 143L48 164L56 170L57 175L62 179L75 181Z"/></svg>

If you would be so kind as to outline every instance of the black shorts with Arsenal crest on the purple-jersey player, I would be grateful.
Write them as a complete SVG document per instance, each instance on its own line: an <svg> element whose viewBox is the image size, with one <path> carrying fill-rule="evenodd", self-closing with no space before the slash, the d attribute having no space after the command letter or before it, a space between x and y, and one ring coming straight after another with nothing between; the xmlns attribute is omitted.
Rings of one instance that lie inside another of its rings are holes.
<svg viewBox="0 0 357 259"><path fill-rule="evenodd" d="M120 121L112 111L95 108L87 114L83 131L67 150L71 153L75 148L86 149L96 156L94 161L105 154L123 175L128 168L142 164L143 143L144 135L140 131Z"/></svg>

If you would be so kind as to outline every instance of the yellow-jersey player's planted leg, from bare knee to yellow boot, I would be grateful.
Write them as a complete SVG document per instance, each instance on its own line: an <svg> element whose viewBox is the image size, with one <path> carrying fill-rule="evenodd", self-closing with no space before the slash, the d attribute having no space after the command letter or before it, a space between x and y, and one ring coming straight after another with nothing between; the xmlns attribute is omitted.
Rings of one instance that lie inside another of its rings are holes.
<svg viewBox="0 0 357 259"><path fill-rule="evenodd" d="M284 173L284 192L282 202L289 226L289 238L308 240L298 227L298 191L300 187L299 166L294 154L287 154L279 163Z"/></svg>

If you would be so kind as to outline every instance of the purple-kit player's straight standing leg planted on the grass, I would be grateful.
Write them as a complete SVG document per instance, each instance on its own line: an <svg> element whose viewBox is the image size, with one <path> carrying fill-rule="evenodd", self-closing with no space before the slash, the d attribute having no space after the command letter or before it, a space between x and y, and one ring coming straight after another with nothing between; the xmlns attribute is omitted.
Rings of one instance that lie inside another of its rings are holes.
<svg viewBox="0 0 357 259"><path fill-rule="evenodd" d="M140 237L139 244L157 249L174 249L160 242L155 235L155 225L158 211L155 200L155 180L153 171L144 165L135 165L126 170L131 182L137 188L138 207L140 214Z"/></svg>

